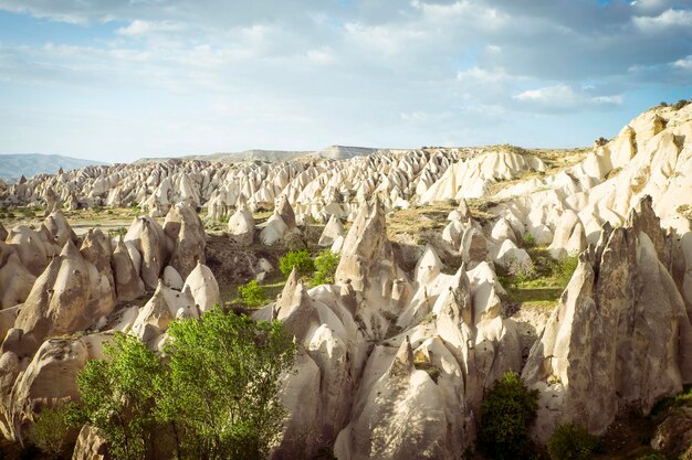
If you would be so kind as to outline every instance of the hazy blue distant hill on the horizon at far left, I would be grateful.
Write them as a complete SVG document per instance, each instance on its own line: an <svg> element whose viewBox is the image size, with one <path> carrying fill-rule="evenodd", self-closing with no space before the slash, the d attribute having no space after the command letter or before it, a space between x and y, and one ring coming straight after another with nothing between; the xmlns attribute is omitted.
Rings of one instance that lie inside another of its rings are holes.
<svg viewBox="0 0 692 460"><path fill-rule="evenodd" d="M43 153L0 153L0 179L14 181L22 175L31 178L36 174L55 174L60 168L69 171L75 168L106 164L103 161L82 160L60 154Z"/></svg>

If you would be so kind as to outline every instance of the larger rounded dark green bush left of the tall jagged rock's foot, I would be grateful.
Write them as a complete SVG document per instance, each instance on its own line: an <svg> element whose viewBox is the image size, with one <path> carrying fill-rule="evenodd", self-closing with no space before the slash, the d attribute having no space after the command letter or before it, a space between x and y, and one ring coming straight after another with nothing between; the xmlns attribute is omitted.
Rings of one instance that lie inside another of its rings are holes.
<svg viewBox="0 0 692 460"><path fill-rule="evenodd" d="M480 450L497 460L530 458L535 447L527 429L536 418L537 400L538 392L528 389L516 373L504 374L481 404Z"/></svg>

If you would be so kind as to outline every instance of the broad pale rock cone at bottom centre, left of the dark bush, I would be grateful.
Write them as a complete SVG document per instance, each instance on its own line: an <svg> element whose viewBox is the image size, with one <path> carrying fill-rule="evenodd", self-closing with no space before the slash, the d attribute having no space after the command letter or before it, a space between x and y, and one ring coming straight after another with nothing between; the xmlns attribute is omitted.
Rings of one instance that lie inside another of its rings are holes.
<svg viewBox="0 0 692 460"><path fill-rule="evenodd" d="M370 383L358 392L359 402L352 421L336 440L336 457L345 460L460 457L464 448L461 422L464 404L450 386L452 381L461 382L461 371L439 341L426 344L421 354L441 354L440 361L432 361L441 366L437 384L426 371L416 370L408 339L394 357L376 346L364 371L364 381ZM388 367L382 366L386 363L390 363Z"/></svg>

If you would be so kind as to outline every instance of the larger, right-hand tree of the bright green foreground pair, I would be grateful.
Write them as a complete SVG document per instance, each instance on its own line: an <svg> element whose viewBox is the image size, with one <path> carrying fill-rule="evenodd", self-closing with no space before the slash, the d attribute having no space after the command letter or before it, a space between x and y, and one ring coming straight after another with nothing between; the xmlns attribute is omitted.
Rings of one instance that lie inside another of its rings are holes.
<svg viewBox="0 0 692 460"><path fill-rule="evenodd" d="M186 457L264 458L281 434L280 376L295 354L282 323L214 309L175 321L168 333L170 373L158 413L180 427Z"/></svg>

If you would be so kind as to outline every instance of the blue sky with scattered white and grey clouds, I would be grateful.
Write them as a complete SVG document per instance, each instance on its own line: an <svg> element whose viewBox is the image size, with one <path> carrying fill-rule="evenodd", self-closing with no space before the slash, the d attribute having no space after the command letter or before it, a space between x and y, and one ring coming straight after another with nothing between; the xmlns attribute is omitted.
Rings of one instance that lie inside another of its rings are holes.
<svg viewBox="0 0 692 460"><path fill-rule="evenodd" d="M683 98L692 0L0 0L0 153L567 148Z"/></svg>

